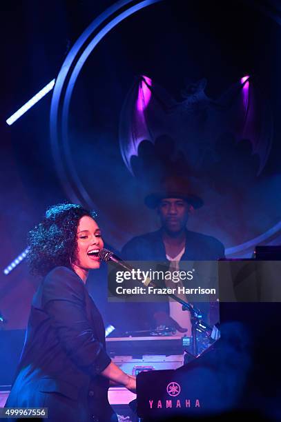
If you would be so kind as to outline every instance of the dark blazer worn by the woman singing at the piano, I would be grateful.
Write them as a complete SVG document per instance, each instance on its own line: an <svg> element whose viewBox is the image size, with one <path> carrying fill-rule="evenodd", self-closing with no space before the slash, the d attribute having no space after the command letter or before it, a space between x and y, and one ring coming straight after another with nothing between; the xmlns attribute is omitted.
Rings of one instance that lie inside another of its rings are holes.
<svg viewBox="0 0 281 422"><path fill-rule="evenodd" d="M109 363L93 299L75 272L57 267L32 300L6 407L48 407L48 421L109 421L109 381L99 375Z"/></svg>

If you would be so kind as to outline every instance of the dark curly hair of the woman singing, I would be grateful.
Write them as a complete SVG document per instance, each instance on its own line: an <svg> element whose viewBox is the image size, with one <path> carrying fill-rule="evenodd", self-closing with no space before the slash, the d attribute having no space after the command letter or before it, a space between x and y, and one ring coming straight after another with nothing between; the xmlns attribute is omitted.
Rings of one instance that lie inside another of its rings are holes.
<svg viewBox="0 0 281 422"><path fill-rule="evenodd" d="M81 217L95 219L97 214L74 203L52 205L45 218L28 234L28 264L30 272L45 276L53 268L70 268L77 250L77 227Z"/></svg>

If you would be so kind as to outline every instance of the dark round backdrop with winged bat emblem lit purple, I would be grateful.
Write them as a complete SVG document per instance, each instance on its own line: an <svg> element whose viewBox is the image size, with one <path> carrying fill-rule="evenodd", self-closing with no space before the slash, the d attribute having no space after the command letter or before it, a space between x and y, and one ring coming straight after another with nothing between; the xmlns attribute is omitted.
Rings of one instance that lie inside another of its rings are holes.
<svg viewBox="0 0 281 422"><path fill-rule="evenodd" d="M280 27L247 4L231 8L231 22L221 1L128 12L87 53L75 85L65 81L60 137L55 87L60 179L70 199L97 209L117 249L157 228L144 197L171 174L204 200L188 228L219 238L229 256L278 241L280 63L268 46L277 48Z"/></svg>

